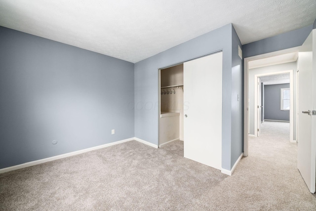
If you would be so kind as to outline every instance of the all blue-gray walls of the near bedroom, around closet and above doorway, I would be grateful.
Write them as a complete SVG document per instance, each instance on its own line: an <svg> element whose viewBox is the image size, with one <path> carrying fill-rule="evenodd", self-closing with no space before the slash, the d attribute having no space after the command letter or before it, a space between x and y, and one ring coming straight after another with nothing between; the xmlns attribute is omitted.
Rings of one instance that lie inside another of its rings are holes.
<svg viewBox="0 0 316 211"><path fill-rule="evenodd" d="M245 44L243 56L299 46L312 28ZM0 169L134 136L158 144L158 69L218 50L223 50L222 168L231 169L243 148L237 44L228 24L134 67L0 27Z"/></svg>

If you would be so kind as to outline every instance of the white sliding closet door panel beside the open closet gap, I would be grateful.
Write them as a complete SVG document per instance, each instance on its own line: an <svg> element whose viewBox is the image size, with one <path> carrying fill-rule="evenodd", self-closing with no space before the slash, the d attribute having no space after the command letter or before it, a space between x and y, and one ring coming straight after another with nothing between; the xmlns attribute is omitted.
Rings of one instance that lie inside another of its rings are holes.
<svg viewBox="0 0 316 211"><path fill-rule="evenodd" d="M215 53L184 63L184 157L222 169L222 63Z"/></svg>

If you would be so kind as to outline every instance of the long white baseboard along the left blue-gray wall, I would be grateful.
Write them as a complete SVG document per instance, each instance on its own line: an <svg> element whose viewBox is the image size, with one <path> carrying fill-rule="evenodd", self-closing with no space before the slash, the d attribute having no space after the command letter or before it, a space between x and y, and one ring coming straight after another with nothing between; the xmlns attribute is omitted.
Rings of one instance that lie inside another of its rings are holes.
<svg viewBox="0 0 316 211"><path fill-rule="evenodd" d="M35 165L38 165L38 164L43 164L43 163L46 163L46 162L49 162L49 161L54 161L54 160L58 160L58 159L62 159L62 158L67 158L67 157L70 157L70 156L78 155L78 154L81 154L81 153L85 153L85 152L89 152L89 151L93 151L93 150L97 150L97 149L102 149L102 148L105 148L105 147L113 146L113 145L116 145L116 144L120 144L120 143L124 143L124 142L127 142L127 141L131 141L131 140L135 140L135 138L127 138L127 139L124 139L124 140L120 140L120 141L116 141L116 142L112 142L112 143L108 143L108 144L103 144L103 145L99 145L99 146L95 146L95 147L90 147L90 148L78 150L78 151L75 151L75 152L70 152L70 153L66 153L66 154L62 154L62 155L56 155L56 156L53 156L53 157L44 158L44 159L40 159L40 160L37 160L37 161L31 161L31 162L27 162L27 163L16 165L16 166L12 166L12 167L7 167L7 168L4 168L4 169L0 169L0 173L12 171L12 170L17 170L17 169L23 169L23 168L30 167L30 166L35 166Z"/></svg>

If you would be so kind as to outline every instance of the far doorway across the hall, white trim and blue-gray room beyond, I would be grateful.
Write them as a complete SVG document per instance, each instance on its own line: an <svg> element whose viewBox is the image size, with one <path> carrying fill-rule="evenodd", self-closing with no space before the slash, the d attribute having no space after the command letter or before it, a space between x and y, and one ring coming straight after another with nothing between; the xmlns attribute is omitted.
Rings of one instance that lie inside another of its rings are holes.
<svg viewBox="0 0 316 211"><path fill-rule="evenodd" d="M265 120L289 122L289 141L296 142L293 140L294 128L296 128L296 121L294 121L294 111L296 111L294 102L296 101L296 97L294 98L293 70L256 74L254 81L253 118L255 129L253 135L255 137L260 136L261 123ZM269 93L265 93L265 87L268 88ZM289 91L289 97L285 101L281 98L286 90ZM265 98L267 98L267 102L265 102ZM288 108L285 107L287 104L284 105L284 108L281 106L283 102L285 102L285 104L289 103Z"/></svg>

